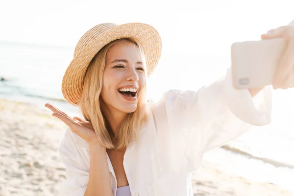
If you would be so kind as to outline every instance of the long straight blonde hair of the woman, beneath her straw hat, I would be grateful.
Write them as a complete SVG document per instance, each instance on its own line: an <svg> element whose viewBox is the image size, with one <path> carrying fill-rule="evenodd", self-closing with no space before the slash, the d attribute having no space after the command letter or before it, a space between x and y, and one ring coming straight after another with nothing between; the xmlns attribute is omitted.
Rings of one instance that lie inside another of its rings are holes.
<svg viewBox="0 0 294 196"><path fill-rule="evenodd" d="M84 81L81 101L79 103L80 112L83 118L92 123L100 144L106 149L123 149L131 142L137 142L138 130L149 118L149 112L146 107L146 85L138 100L137 109L128 113L123 123L119 126L116 134L113 135L109 123L107 122L103 111L101 110L100 94L102 90L103 71L106 62L107 51L114 45L127 41L139 47L143 66L146 68L146 60L141 46L131 38L115 40L98 51L89 64ZM147 72L145 72L147 79Z"/></svg>

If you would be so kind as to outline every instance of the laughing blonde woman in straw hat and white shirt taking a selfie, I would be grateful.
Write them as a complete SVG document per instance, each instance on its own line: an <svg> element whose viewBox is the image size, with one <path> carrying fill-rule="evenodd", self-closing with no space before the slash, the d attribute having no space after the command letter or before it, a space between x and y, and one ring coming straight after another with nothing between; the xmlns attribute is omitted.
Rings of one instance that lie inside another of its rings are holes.
<svg viewBox="0 0 294 196"><path fill-rule="evenodd" d="M262 35L284 37L288 48L273 87L292 85L294 27ZM270 123L270 87L235 90L231 72L198 91L171 90L146 100L146 79L161 53L150 25L101 24L78 42L62 82L64 98L83 119L51 104L69 128L60 146L67 168L62 195L193 196L191 172L209 149Z"/></svg>

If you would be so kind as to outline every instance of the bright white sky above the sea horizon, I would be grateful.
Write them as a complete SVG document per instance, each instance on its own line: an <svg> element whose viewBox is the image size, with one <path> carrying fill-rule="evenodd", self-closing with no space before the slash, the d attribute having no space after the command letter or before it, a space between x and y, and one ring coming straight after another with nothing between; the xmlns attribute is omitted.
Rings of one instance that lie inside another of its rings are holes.
<svg viewBox="0 0 294 196"><path fill-rule="evenodd" d="M289 23L292 0L9 0L0 4L0 40L75 46L94 25L141 22L158 29L167 48L192 39L259 39Z"/></svg>

